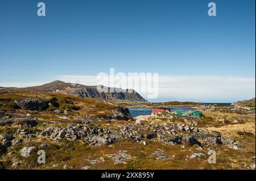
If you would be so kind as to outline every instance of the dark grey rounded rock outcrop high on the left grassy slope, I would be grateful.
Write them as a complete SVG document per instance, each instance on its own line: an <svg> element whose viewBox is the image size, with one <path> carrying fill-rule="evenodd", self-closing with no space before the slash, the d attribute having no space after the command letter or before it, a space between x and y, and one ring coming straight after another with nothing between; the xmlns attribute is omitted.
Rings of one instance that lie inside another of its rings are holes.
<svg viewBox="0 0 256 181"><path fill-rule="evenodd" d="M46 110L48 104L44 100L38 99L22 99L14 101L17 106L22 108L22 110L30 110L30 111L43 111Z"/></svg>

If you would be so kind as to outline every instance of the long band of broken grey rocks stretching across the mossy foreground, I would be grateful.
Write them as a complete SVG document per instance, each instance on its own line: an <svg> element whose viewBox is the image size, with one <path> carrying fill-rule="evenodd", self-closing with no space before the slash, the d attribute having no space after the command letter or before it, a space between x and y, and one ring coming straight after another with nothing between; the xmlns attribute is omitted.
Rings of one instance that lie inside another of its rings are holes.
<svg viewBox="0 0 256 181"><path fill-rule="evenodd" d="M180 131L186 132L182 135ZM243 145L235 140L222 136L218 132L208 129L199 129L189 125L165 123L164 125L128 124L120 128L96 128L88 124L69 124L67 127L50 127L45 129L42 136L47 136L54 141L67 138L69 141L82 140L89 145L109 145L116 140L128 139L142 142L145 139L162 142L166 145L180 145L188 142L190 145L225 145L229 148L239 149Z"/></svg>

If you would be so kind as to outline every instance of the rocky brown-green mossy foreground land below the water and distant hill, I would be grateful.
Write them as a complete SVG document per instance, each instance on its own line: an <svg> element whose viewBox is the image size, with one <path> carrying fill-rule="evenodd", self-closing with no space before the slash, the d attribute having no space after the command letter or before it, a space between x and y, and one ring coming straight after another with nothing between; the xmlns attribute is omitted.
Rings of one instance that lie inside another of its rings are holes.
<svg viewBox="0 0 256 181"><path fill-rule="evenodd" d="M1 94L0 105L2 169L255 169L255 115L133 120L104 100L34 92Z"/></svg>

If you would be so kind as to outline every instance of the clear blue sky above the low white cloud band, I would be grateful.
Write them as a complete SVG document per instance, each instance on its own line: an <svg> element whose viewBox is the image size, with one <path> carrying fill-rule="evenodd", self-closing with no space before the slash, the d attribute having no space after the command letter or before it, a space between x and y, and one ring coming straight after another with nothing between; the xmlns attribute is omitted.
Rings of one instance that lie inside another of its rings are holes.
<svg viewBox="0 0 256 181"><path fill-rule="evenodd" d="M205 0L42 0L45 17L38 2L0 2L0 86L109 68L255 80L254 0L212 1L215 17ZM241 98L255 95L250 89Z"/></svg>

